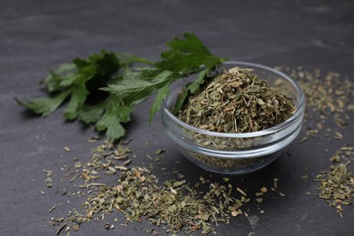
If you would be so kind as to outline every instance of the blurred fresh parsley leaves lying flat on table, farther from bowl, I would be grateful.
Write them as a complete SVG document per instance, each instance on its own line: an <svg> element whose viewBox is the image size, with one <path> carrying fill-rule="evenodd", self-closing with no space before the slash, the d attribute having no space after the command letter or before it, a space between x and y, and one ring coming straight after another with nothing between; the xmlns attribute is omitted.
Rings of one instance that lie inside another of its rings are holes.
<svg viewBox="0 0 354 236"><path fill-rule="evenodd" d="M124 106L113 93L104 93L101 87L112 83L113 74L130 71L134 63L152 64L133 54L114 54L102 51L87 59L76 58L71 64L62 64L44 78L47 97L16 102L28 110L47 116L68 101L64 120L93 123L98 131L105 132L110 141L123 137L122 123L130 121L132 107Z"/></svg>

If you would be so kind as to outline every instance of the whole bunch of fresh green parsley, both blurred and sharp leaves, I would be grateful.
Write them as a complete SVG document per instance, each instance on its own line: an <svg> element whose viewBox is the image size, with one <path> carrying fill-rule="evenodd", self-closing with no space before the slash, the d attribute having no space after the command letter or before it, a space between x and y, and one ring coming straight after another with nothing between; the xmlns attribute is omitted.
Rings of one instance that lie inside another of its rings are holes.
<svg viewBox="0 0 354 236"><path fill-rule="evenodd" d="M216 57L195 34L184 33L183 39L174 37L156 63L133 54L102 51L87 59L76 58L62 64L44 78L47 97L16 102L28 110L47 116L68 101L64 120L75 119L93 123L106 138L117 141L125 135L122 123L130 121L133 106L156 92L150 111L150 121L170 92L170 85L178 79L198 74L174 106L178 112L189 93L194 93L204 78L225 58ZM149 67L133 67L143 63Z"/></svg>

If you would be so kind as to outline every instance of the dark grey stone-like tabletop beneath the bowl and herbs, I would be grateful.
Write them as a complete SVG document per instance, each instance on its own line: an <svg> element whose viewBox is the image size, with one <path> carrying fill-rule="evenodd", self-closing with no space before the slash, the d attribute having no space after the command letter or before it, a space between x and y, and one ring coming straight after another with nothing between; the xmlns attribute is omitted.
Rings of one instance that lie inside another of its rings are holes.
<svg viewBox="0 0 354 236"><path fill-rule="evenodd" d="M193 31L212 53L232 60L319 68L349 75L353 82L353 13L352 1L2 1L0 234L54 235L56 228L47 223L50 218L65 216L73 208L80 210L83 203L83 198L60 194L65 187L60 182L60 168L74 158L87 161L90 148L100 143L87 142L96 133L80 123L64 123L63 109L47 118L36 118L13 99L44 95L37 82L48 69L103 48L157 60L168 39ZM149 126L150 103L136 107L133 122L127 126L128 137L133 138L130 147L136 154L133 164L147 165L144 153L163 148L167 152L162 163L184 173L187 181L210 176L182 158L163 133L159 116ZM241 216L221 224L219 234L354 235L353 207L347 207L344 217L339 217L327 202L313 195L318 183L311 181L329 168L329 154L323 153L323 146L327 145L330 153L343 143L353 144L352 120L343 134L340 143L321 139L293 143L290 156L280 157L261 171L231 177L233 184L253 194L278 178L279 191L286 196L274 193L265 199L261 204L264 214L250 204L249 215L259 218L255 226ZM146 146L146 141L150 145ZM65 152L64 146L71 152ZM180 163L175 165L176 161ZM51 189L45 186L44 169L54 172ZM158 169L154 174L166 178ZM300 179L303 174L310 179ZM222 175L208 178L219 181ZM48 212L60 202L61 207ZM72 235L146 235L141 228L152 229L146 222L127 227L120 227L120 223L106 231L104 221L90 221Z"/></svg>

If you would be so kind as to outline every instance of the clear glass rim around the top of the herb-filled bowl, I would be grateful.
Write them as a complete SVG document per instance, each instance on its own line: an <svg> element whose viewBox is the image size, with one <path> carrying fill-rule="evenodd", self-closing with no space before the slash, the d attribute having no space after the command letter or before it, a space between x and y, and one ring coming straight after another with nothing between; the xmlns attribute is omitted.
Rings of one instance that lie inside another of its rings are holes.
<svg viewBox="0 0 354 236"><path fill-rule="evenodd" d="M280 130L288 128L293 122L295 122L298 117L303 113L305 109L305 94L303 93L302 89L300 88L300 85L292 80L289 75L284 74L280 71L277 71L273 68L270 68L269 66L262 65L262 64L254 64L254 63L247 63L247 62L236 62L236 61L229 61L229 62L224 62L223 64L231 64L231 65L242 65L242 66L251 66L255 68L261 68L263 70L270 71L271 73L278 74L284 79L286 79L292 86L295 88L296 92L299 95L299 105L297 107L297 110L295 113L293 113L288 120L286 120L283 123L277 124L273 127L270 127L269 129L265 129L262 131L258 132L251 132L251 133L218 133L218 132L211 132L211 131L206 131L202 130L196 127L193 127L192 125L189 125L188 123L183 123L180 119L178 119L173 113L171 113L169 106L167 104L167 99L164 99L162 102L162 109L164 113L166 113L174 123L177 123L181 125L183 128L187 128L189 130L192 130L193 132L196 133L202 133L204 135L209 135L209 136L215 136L215 137L221 137L221 138L252 138L252 137L261 137L265 135L270 135L272 133L278 133Z"/></svg>

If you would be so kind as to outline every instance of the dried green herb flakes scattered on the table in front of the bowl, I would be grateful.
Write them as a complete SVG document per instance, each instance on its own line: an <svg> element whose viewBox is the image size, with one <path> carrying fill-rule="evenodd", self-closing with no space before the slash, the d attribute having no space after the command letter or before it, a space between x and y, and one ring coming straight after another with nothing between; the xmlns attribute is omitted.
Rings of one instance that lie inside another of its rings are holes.
<svg viewBox="0 0 354 236"><path fill-rule="evenodd" d="M250 202L255 202L260 212L264 213L260 204L269 192L265 186L251 199L251 196L232 185L226 177L222 182L215 182L201 176L192 185L186 182L181 173L173 172L172 178L159 183L152 173L153 165L149 169L131 166L130 152L123 144L103 144L92 150L88 162L75 159L74 171L70 171L70 165L62 168L64 179L61 182L67 179L74 187L80 188L79 191L70 192L70 186L64 187L63 195L84 197L84 204L81 209L68 211L66 216L52 217L49 224L57 227L56 234L67 231L70 235L70 231L79 231L87 221L103 221L106 230L113 230L114 224L126 226L130 222L141 222L144 219L155 227L152 230L142 230L154 235L159 234L159 231L217 234L215 227L219 224L229 223L231 218L240 215L248 217L247 211L242 208ZM162 152L157 151L155 154L161 156ZM162 170L162 163L156 158L153 160ZM51 176L53 171L45 173ZM103 175L115 177L116 174L119 174L119 178L114 184L100 182ZM269 187L273 192L277 192L277 182L278 179L274 179L274 185ZM51 184L47 187L54 186ZM49 212L54 215L54 210L62 205L55 204ZM123 217L123 220L105 220L113 213L119 219Z"/></svg>

